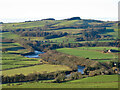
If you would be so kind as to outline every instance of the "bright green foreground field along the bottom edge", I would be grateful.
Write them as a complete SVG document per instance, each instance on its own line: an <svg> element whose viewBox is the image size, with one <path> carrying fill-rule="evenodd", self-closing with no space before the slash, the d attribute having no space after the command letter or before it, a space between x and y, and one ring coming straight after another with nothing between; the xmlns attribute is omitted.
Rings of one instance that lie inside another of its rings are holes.
<svg viewBox="0 0 120 90"><path fill-rule="evenodd" d="M102 79L102 82L101 80ZM118 88L117 75L104 75L73 80L64 83L23 83L13 86L3 85L3 88Z"/></svg>

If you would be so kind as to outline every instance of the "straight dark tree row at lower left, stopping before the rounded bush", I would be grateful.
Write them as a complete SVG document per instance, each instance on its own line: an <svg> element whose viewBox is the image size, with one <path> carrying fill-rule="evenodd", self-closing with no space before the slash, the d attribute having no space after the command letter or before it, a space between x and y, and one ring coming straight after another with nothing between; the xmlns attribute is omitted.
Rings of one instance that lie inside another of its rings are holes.
<svg viewBox="0 0 120 90"><path fill-rule="evenodd" d="M38 81L38 80L48 80L54 79L57 76L57 73L44 73L36 74L31 73L28 75L19 74L14 76L2 76L2 83L15 83L15 82L28 82L28 81Z"/></svg>

